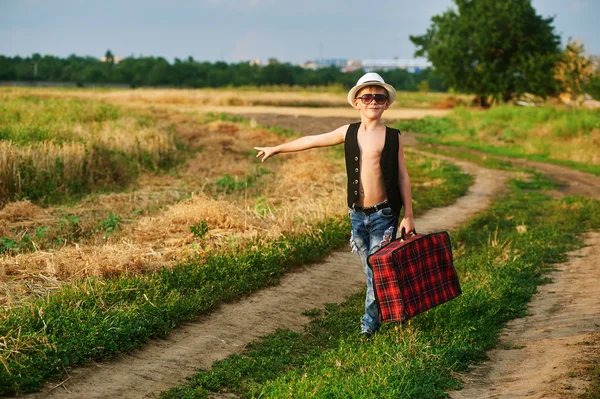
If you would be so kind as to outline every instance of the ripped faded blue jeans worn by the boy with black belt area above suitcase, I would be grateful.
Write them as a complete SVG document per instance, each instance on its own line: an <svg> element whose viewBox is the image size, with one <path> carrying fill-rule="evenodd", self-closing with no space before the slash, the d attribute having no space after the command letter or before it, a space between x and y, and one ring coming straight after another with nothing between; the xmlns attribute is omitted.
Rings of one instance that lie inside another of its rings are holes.
<svg viewBox="0 0 600 399"><path fill-rule="evenodd" d="M391 208L384 208L370 215L350 209L348 215L352 221L350 247L352 252L360 257L367 276L367 296L361 331L372 333L379 329L381 323L373 290L373 273L367 264L367 257L396 238L398 215L395 215Z"/></svg>

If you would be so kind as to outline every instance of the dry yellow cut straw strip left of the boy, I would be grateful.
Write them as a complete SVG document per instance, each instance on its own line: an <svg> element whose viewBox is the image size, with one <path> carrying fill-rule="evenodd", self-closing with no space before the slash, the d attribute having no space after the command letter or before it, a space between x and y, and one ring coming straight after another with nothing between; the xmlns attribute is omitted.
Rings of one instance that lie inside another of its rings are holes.
<svg viewBox="0 0 600 399"><path fill-rule="evenodd" d="M0 305L16 306L72 280L172 267L189 256L203 257L231 243L271 240L286 232L311 229L316 221L343 212L343 167L329 161L325 150L261 164L252 147L281 142L281 137L239 123L199 125L192 123L197 117L173 110L161 113L191 145L200 148L177 176L144 174L134 191L90 196L71 207L40 209L16 202L0 211L4 236L19 238L23 231L36 227L56 227L66 214L79 218L79 229L87 233L79 242L67 240L58 248L2 256ZM123 137L128 126L121 121L95 135L132 145L130 138ZM47 151L56 150L49 146ZM273 173L262 176L255 187L232 194L215 189L224 174L243 179L259 167ZM185 193L192 195L181 200ZM94 233L99 220L110 212L132 215L134 209L144 210L145 216L127 218L115 234ZM199 239L190 227L201 222L209 231Z"/></svg>

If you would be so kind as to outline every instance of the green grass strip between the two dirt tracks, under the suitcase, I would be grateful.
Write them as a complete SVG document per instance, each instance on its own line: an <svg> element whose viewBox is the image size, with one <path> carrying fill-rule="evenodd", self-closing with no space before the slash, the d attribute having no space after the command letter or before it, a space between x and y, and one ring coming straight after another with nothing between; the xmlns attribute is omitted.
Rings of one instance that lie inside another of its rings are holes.
<svg viewBox="0 0 600 399"><path fill-rule="evenodd" d="M459 298L364 341L357 330L364 294L356 295L310 312L303 332L271 334L161 397L447 397L461 385L456 373L485 360L505 323L526 315L545 271L582 245L574 232L600 228L598 201L551 199L544 191L553 187L541 175L513 180L505 197L451 233Z"/></svg>

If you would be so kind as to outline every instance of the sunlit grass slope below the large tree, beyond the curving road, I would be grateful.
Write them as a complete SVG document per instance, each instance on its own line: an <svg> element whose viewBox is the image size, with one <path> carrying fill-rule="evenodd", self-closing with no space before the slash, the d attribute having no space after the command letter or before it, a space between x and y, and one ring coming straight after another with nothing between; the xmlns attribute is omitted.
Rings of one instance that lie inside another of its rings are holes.
<svg viewBox="0 0 600 399"><path fill-rule="evenodd" d="M426 143L568 166L600 175L600 113L552 106L457 108L442 118L401 121L401 130L427 133Z"/></svg>

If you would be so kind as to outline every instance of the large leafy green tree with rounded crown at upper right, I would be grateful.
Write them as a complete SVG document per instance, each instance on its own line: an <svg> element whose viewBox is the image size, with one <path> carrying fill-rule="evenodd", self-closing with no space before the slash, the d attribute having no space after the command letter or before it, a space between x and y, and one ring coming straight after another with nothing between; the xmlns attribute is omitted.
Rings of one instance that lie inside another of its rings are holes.
<svg viewBox="0 0 600 399"><path fill-rule="evenodd" d="M531 0L454 2L457 10L434 16L426 34L410 36L415 56L426 56L445 86L476 94L481 106L557 93L554 18L537 15Z"/></svg>

